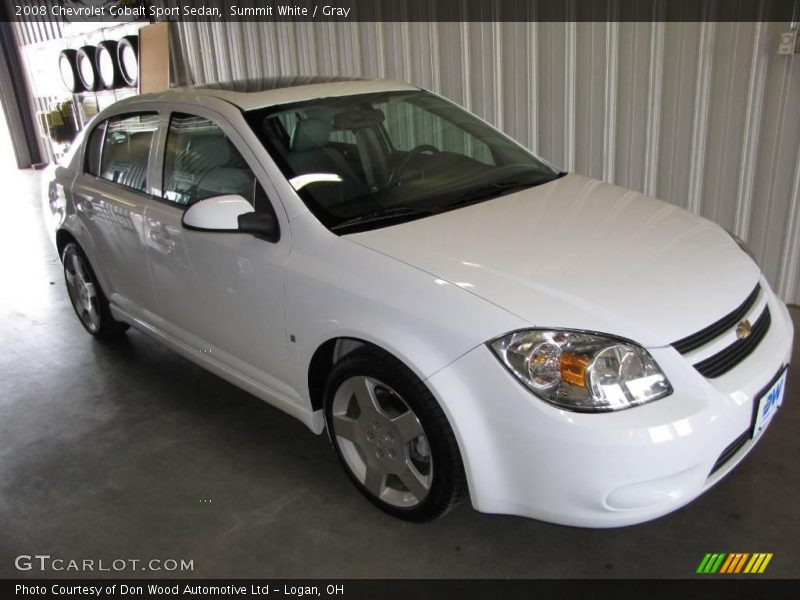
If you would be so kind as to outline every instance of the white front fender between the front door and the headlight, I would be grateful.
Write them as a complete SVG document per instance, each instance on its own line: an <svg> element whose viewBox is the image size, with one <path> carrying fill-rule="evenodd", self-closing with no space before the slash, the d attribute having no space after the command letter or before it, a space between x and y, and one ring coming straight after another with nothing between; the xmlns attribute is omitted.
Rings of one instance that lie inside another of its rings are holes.
<svg viewBox="0 0 800 600"><path fill-rule="evenodd" d="M309 406L309 365L328 340L370 342L425 380L486 340L526 326L457 285L323 230L310 213L292 221L292 235L289 370Z"/></svg>

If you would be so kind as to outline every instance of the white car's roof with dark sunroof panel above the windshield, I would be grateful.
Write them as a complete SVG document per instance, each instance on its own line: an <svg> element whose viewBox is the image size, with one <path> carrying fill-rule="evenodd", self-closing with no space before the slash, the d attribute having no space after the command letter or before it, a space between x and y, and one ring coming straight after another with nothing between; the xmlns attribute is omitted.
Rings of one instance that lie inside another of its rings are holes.
<svg viewBox="0 0 800 600"><path fill-rule="evenodd" d="M302 102L315 98L351 96L370 92L416 90L415 86L386 79L357 77L267 77L238 79L201 86L177 87L164 92L133 96L120 103L139 101L189 101L202 103L204 97L225 100L242 110L253 110L279 104Z"/></svg>

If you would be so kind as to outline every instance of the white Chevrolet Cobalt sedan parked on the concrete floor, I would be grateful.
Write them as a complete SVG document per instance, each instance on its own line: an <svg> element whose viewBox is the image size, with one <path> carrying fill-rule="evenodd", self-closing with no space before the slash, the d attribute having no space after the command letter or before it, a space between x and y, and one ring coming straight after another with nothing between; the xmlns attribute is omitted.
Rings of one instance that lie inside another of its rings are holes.
<svg viewBox="0 0 800 600"><path fill-rule="evenodd" d="M740 240L387 81L102 111L45 193L75 312L327 430L375 505L639 523L781 404L792 324Z"/></svg>

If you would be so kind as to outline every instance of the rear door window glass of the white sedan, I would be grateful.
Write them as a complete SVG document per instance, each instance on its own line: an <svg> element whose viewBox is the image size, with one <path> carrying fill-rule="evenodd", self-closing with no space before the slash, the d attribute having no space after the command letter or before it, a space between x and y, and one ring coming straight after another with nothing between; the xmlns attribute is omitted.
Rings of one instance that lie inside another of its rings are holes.
<svg viewBox="0 0 800 600"><path fill-rule="evenodd" d="M147 191L150 145L158 128L155 113L121 115L106 121L100 177L125 187Z"/></svg>

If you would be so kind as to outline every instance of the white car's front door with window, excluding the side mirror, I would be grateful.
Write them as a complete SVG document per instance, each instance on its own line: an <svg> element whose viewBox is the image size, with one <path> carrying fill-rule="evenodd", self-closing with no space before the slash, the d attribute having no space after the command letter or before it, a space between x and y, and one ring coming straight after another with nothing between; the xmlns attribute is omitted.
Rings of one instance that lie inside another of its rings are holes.
<svg viewBox="0 0 800 600"><path fill-rule="evenodd" d="M274 188L235 129L200 107L171 113L157 160L161 189L146 214L145 244L161 326L206 358L292 395L284 383L288 227L272 243L182 225L189 206L226 194L275 214Z"/></svg>

